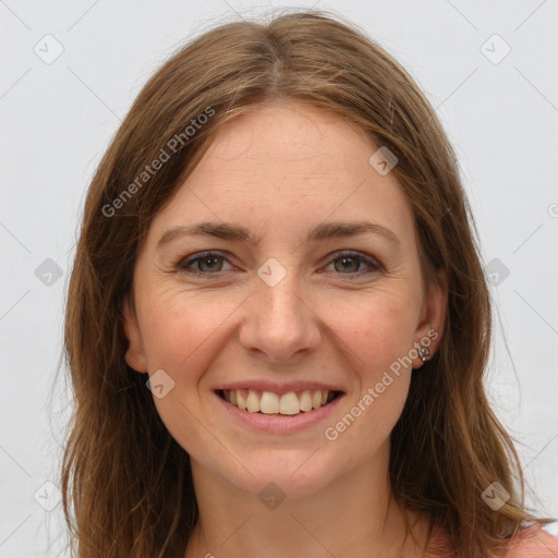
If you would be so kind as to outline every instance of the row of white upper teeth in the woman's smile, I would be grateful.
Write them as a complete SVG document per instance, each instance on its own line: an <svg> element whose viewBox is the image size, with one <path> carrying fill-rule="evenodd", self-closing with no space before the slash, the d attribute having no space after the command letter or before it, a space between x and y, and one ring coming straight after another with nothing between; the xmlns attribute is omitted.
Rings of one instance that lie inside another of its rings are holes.
<svg viewBox="0 0 558 558"><path fill-rule="evenodd" d="M265 414L299 414L301 411L319 409L332 399L335 391L329 390L305 390L289 391L279 396L271 391L257 391L255 389L223 389L225 400L229 403L250 411L251 413L262 412ZM331 397L330 397L331 396Z"/></svg>

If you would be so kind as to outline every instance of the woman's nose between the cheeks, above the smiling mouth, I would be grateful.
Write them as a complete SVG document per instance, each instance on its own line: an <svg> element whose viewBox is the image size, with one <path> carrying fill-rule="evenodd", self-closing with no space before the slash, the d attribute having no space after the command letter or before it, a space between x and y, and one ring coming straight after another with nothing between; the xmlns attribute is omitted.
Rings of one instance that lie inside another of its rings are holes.
<svg viewBox="0 0 558 558"><path fill-rule="evenodd" d="M295 275L289 271L275 287L256 278L256 292L243 304L241 345L269 363L298 362L320 342L319 317Z"/></svg>

